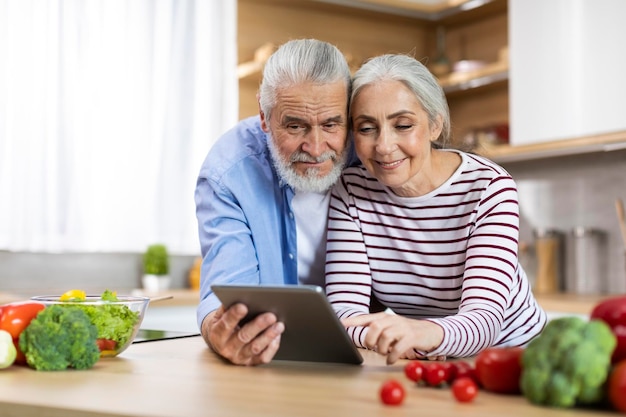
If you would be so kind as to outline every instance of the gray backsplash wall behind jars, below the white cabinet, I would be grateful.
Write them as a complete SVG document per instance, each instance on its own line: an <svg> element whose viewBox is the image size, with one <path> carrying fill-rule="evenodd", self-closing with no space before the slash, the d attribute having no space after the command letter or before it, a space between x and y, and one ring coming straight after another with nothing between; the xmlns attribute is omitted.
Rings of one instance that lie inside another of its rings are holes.
<svg viewBox="0 0 626 417"><path fill-rule="evenodd" d="M607 233L601 262L609 293L626 292L626 255L619 232L615 199L626 201L626 151L564 156L502 164L516 180L520 198L521 240L532 243L535 228L557 228L569 234L576 226ZM566 241L571 247L571 238ZM567 252L567 250L566 250ZM532 253L524 257L534 275ZM572 279L572 257L566 277Z"/></svg>

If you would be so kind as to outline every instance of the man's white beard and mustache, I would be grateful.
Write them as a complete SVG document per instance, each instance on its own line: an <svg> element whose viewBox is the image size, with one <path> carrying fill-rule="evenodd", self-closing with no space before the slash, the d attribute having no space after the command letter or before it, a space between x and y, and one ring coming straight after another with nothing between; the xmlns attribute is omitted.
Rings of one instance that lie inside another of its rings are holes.
<svg viewBox="0 0 626 417"><path fill-rule="evenodd" d="M313 158L306 152L296 151L289 156L289 160L286 160L280 155L278 149L274 146L274 138L272 137L272 134L268 133L267 136L267 145L270 149L272 162L274 163L276 171L278 171L278 175L297 192L304 191L322 193L327 191L341 176L341 171L343 171L348 159L348 152L344 150L341 155L337 155L334 151L324 152L318 158ZM323 177L318 176L318 168L309 168L306 170L304 175L298 174L293 168L293 164L295 162L320 163L329 159L333 161L333 168Z"/></svg>

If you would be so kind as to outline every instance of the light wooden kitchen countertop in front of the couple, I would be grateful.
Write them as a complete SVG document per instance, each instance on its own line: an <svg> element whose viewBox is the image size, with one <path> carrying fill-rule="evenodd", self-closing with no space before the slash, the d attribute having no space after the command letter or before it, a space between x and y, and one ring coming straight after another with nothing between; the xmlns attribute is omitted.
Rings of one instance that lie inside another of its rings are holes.
<svg viewBox="0 0 626 417"><path fill-rule="evenodd" d="M362 366L274 362L259 367L226 364L200 337L131 345L117 358L85 371L0 370L2 416L455 416L590 417L609 412L537 407L521 396L481 391L458 403L448 388L417 387L405 362L387 366L363 351ZM384 406L378 389L397 378L404 404Z"/></svg>

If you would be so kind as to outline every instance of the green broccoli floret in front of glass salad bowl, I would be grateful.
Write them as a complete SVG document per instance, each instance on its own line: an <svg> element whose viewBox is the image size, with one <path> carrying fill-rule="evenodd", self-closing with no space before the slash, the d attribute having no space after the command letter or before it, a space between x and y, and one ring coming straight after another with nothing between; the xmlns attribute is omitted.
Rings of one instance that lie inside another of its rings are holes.
<svg viewBox="0 0 626 417"><path fill-rule="evenodd" d="M51 305L20 334L26 362L38 371L88 369L100 358L98 330L78 307Z"/></svg>

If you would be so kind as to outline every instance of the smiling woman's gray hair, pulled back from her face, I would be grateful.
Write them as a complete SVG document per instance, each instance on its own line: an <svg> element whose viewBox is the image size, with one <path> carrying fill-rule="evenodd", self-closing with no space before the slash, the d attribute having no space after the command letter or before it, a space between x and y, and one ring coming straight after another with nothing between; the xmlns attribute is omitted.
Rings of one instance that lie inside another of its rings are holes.
<svg viewBox="0 0 626 417"><path fill-rule="evenodd" d="M382 80L396 80L406 85L428 114L431 125L441 115L441 134L433 145L438 148L447 146L450 140L450 110L443 89L428 68L408 55L387 54L371 58L354 74L350 105L363 87Z"/></svg>

